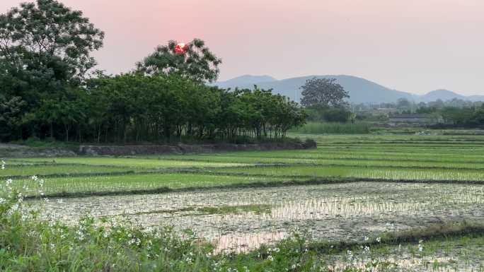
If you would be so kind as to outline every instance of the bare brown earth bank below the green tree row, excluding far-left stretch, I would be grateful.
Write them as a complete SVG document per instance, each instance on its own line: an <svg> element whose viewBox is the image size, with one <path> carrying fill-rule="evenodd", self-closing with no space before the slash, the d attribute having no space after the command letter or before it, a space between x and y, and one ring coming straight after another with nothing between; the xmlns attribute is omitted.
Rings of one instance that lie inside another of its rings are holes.
<svg viewBox="0 0 484 272"><path fill-rule="evenodd" d="M216 153L221 151L243 151L243 150L295 150L316 148L315 141L304 143L214 143L203 145L187 145L178 143L176 145L158 146L80 146L80 155L150 155L150 154L184 154L184 153Z"/></svg>

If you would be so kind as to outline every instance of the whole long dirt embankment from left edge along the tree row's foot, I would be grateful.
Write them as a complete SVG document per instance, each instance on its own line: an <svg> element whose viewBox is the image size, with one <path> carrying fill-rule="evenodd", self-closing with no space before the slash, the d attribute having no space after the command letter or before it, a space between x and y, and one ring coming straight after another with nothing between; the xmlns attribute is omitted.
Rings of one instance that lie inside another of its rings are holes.
<svg viewBox="0 0 484 272"><path fill-rule="evenodd" d="M128 146L79 146L79 150L65 148L31 148L16 144L0 143L0 158L27 157L72 157L76 155L154 155L154 154L185 154L185 153L217 153L223 151L243 150L296 150L316 148L316 142L309 140L304 143L213 143L188 145L183 143L173 145L128 145Z"/></svg>

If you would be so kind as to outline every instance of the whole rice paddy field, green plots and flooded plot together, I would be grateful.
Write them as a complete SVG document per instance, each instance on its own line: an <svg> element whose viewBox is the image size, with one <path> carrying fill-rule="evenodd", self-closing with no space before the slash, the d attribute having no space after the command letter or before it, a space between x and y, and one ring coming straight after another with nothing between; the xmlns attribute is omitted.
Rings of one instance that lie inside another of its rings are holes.
<svg viewBox="0 0 484 272"><path fill-rule="evenodd" d="M190 230L215 254L302 235L330 271L484 271L484 136L297 136L318 148L5 158L0 176L42 218Z"/></svg>

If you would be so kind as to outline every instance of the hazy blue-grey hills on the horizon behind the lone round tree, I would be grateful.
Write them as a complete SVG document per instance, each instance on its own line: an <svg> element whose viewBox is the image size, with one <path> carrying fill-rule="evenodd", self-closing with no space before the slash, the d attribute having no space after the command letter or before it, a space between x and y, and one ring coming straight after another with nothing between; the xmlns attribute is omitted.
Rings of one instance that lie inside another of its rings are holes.
<svg viewBox="0 0 484 272"><path fill-rule="evenodd" d="M296 78L287 78L277 80L271 76L239 76L228 81L220 81L214 83L221 88L253 88L253 85L258 85L260 88L273 89L273 93L280 93L286 95L292 100L298 101L301 99L301 85L304 85L309 78L336 78L336 81L342 85L345 90L350 93L350 102L354 103L378 103L378 102L396 102L398 98L406 98L415 102L428 102L441 100L452 100L459 98L462 100L484 101L484 95L464 96L454 93L450 90L432 90L426 95L415 95L413 93L406 93L400 90L393 90L386 88L383 85L368 81L364 78L356 76L345 75L326 75L326 76L301 76Z"/></svg>

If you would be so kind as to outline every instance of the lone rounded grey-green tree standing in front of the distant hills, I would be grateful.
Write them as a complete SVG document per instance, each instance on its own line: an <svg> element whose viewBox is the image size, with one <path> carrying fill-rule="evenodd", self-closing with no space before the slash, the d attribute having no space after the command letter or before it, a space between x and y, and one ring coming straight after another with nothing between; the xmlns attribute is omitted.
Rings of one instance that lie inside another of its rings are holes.
<svg viewBox="0 0 484 272"><path fill-rule="evenodd" d="M348 92L335 78L311 78L301 86L301 104L306 107L321 105L325 107L343 107Z"/></svg>

